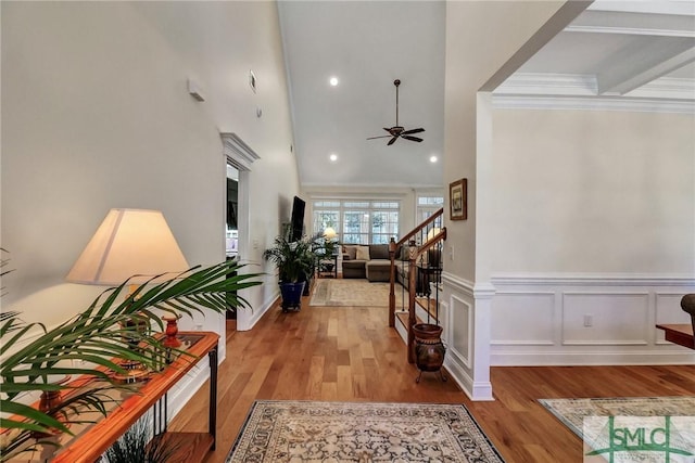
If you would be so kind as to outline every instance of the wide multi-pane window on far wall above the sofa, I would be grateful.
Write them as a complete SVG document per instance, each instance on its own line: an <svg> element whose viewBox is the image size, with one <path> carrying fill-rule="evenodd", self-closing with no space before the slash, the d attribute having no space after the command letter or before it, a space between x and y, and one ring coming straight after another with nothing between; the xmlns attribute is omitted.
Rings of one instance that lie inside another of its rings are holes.
<svg viewBox="0 0 695 463"><path fill-rule="evenodd" d="M316 201L314 233L332 227L340 243L379 244L399 237L397 201Z"/></svg>

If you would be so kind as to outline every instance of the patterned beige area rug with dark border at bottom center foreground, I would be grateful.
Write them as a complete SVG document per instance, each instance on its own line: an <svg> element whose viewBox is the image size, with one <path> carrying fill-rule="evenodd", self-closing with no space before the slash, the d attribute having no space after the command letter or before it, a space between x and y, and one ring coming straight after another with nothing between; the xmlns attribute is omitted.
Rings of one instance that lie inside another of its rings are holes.
<svg viewBox="0 0 695 463"><path fill-rule="evenodd" d="M468 410L257 400L226 463L503 462Z"/></svg>

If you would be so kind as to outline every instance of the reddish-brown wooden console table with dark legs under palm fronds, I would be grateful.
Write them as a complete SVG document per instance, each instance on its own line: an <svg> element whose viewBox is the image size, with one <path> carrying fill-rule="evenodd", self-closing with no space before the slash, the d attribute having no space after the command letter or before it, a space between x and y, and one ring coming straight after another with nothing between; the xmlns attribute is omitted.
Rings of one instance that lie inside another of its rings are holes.
<svg viewBox="0 0 695 463"><path fill-rule="evenodd" d="M193 331L179 332L177 337L182 343L180 348L193 357L178 356L162 372L152 373L148 381L138 383L135 393L113 393L113 398L119 404L112 407L105 417L97 412L85 413L86 420L97 422L71 425L71 430L75 436L62 434L43 439L59 442L62 447L55 448L51 445L37 446L36 450L22 453L16 459L13 459L12 462L93 463L151 408L154 410L153 424L155 434L165 433L164 438L166 441L176 446L176 453L167 461L176 463L202 462L207 452L215 449L217 427L217 342L219 336L212 332ZM207 355L210 361L210 416L207 432L166 432L167 391L205 355ZM72 382L71 385L80 387L89 382L90 378L79 377ZM38 407L38 403L36 406Z"/></svg>

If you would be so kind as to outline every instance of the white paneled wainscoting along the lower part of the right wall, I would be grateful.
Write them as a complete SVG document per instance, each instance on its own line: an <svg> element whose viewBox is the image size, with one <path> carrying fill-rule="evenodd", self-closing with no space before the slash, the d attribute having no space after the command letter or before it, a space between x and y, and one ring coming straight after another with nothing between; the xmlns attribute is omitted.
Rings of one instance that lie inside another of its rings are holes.
<svg viewBox="0 0 695 463"><path fill-rule="evenodd" d="M649 275L497 275L491 364L693 363L657 323L688 323L681 310L695 279Z"/></svg>

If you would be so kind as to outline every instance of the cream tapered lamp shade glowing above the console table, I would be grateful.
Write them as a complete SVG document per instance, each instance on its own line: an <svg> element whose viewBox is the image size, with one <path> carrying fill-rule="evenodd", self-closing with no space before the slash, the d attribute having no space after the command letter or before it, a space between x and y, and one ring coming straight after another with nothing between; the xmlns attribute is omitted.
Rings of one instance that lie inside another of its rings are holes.
<svg viewBox="0 0 695 463"><path fill-rule="evenodd" d="M162 273L186 271L189 265L159 210L111 209L66 280L118 285L128 278L141 284ZM162 278L157 281L165 281Z"/></svg>

